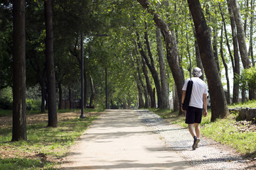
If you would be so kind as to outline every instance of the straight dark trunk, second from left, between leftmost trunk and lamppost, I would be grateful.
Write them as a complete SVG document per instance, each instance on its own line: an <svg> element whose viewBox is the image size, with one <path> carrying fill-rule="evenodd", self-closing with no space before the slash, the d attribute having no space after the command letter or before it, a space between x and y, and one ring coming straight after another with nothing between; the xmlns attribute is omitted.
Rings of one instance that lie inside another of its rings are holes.
<svg viewBox="0 0 256 170"><path fill-rule="evenodd" d="M53 59L53 10L52 1L45 0L46 15L46 70L48 79L48 127L57 127L55 70Z"/></svg>

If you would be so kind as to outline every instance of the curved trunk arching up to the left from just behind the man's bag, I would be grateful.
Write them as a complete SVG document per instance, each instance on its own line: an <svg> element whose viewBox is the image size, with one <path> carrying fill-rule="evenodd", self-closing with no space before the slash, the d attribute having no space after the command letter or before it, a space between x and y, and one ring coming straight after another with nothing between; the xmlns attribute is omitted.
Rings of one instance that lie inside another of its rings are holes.
<svg viewBox="0 0 256 170"><path fill-rule="evenodd" d="M161 19L158 13L151 8L151 4L146 0L137 0L146 10L154 16L154 22L156 26L161 30L162 35L166 43L167 51L167 61L171 72L174 77L175 84L178 90L178 101L180 103L179 115L183 115L181 111L181 96L182 96L182 87L185 82L184 76L180 67L179 58L178 58L178 47L174 38L174 34L169 30L169 26Z"/></svg>

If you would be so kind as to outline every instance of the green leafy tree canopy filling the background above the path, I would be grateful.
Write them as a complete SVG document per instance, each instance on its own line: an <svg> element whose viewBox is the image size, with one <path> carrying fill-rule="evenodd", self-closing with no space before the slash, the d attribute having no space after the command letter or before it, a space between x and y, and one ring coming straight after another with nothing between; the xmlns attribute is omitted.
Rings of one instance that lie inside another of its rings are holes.
<svg viewBox="0 0 256 170"><path fill-rule="evenodd" d="M62 103L64 98L70 101L80 99L81 34L84 35L85 106L105 107L106 68L110 108L159 107L183 114L180 108L176 108L176 103L181 101L181 88L192 67L201 67L206 73L201 78L210 85L213 99L220 86L230 98L238 96L232 100L233 103L239 102L239 96L243 100L255 98L255 87L246 86L252 84L253 74L250 77L251 74L242 72L241 79L238 78L240 69L255 65L255 1L247 1L238 0L238 8L230 1L198 1L201 4L196 8L201 9L206 18L207 38L209 47L213 48L218 72L212 77L212 67L206 65L208 59L202 53L198 25L195 25L198 23L195 23L188 6L189 1L53 0L57 102ZM42 111L48 107L46 96L49 93L44 2L26 1L26 87L40 86ZM14 45L12 8L12 1L1 1L0 89L14 85L11 79L15 74L11 69ZM237 15L240 15L240 20L233 18ZM156 33L157 29L161 31L160 35ZM240 31L244 32L246 46L240 44ZM159 43L163 47L161 51ZM239 45L238 50L242 53L236 53L235 44ZM160 62L161 52L164 66ZM251 64L242 67L245 61ZM213 87L215 77L220 78L220 85L216 88ZM243 84L245 88L239 91L237 84ZM249 92L247 96L246 91ZM168 94L167 98L164 94ZM162 104L164 101L169 104Z"/></svg>

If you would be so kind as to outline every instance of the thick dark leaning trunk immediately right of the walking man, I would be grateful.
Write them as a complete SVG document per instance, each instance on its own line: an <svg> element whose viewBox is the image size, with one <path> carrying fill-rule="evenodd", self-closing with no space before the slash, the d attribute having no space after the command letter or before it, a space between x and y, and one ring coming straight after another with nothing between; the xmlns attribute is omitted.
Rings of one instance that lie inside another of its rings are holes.
<svg viewBox="0 0 256 170"><path fill-rule="evenodd" d="M199 0L188 0L188 6L193 17L201 60L208 79L210 106L212 110L211 121L215 121L217 118L224 118L226 115L229 115L228 105L218 74L218 68L213 57L210 33L206 24L206 18L203 16L201 4Z"/></svg>

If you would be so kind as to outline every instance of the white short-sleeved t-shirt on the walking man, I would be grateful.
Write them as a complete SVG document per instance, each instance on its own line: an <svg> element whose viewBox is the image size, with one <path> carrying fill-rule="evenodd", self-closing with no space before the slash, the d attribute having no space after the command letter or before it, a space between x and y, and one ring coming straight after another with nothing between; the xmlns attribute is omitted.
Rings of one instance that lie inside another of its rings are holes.
<svg viewBox="0 0 256 170"><path fill-rule="evenodd" d="M186 79L182 90L186 91L189 79ZM191 93L191 100L188 106L193 106L195 108L203 108L203 94L208 94L207 84L199 79L199 77L192 77L193 87Z"/></svg>

